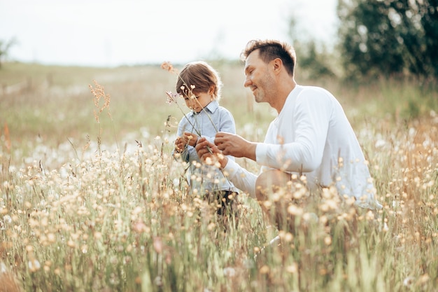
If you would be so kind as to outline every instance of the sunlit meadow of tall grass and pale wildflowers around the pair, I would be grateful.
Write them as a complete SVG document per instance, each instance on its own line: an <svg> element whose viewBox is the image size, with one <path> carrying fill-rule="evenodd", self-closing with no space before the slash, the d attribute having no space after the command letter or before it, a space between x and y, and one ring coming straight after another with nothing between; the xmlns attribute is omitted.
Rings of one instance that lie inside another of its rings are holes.
<svg viewBox="0 0 438 292"><path fill-rule="evenodd" d="M262 141L273 111L243 88L241 64L211 64L236 132ZM436 85L353 85L298 69L298 83L344 106L383 209L327 188L289 209L292 234L245 193L239 224L223 232L188 190L171 156L188 111L166 102L175 80L159 65L3 64L0 292L438 291ZM269 245L276 235L281 246Z"/></svg>

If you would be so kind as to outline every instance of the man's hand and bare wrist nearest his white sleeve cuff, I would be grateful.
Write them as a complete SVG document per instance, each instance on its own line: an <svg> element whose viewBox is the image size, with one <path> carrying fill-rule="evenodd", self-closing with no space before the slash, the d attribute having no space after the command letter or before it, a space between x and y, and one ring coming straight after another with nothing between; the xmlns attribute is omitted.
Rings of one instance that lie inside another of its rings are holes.
<svg viewBox="0 0 438 292"><path fill-rule="evenodd" d="M239 135L218 132L214 144L218 146L223 155L246 157L255 161L255 147L257 144L247 141Z"/></svg>

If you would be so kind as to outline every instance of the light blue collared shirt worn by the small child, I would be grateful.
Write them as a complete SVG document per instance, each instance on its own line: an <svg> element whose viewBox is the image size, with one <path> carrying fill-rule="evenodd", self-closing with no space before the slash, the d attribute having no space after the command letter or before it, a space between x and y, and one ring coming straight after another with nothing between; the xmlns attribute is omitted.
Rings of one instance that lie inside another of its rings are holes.
<svg viewBox="0 0 438 292"><path fill-rule="evenodd" d="M223 106L219 106L215 99L210 102L204 110L199 113L190 111L187 113L178 124L178 137L181 137L184 132L191 132L193 134L201 134L211 143L213 143L216 132L229 132L236 134L236 124L232 113L230 113ZM172 153L174 154L174 152ZM188 172L186 178L192 189L199 191L209 190L232 190L237 189L233 183L227 179L218 167L214 165L201 164L201 160L197 155L196 149L188 145L181 153L181 158L185 162L189 162ZM228 159L234 160L229 156ZM195 165L193 162L199 162ZM199 165L202 165L199 167Z"/></svg>

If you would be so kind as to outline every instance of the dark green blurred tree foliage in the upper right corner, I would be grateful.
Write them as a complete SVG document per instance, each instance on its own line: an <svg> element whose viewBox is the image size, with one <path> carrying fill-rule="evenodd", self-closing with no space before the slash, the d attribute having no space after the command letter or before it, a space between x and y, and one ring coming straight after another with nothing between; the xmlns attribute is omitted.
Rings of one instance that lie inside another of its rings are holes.
<svg viewBox="0 0 438 292"><path fill-rule="evenodd" d="M347 76L438 77L438 0L339 0Z"/></svg>

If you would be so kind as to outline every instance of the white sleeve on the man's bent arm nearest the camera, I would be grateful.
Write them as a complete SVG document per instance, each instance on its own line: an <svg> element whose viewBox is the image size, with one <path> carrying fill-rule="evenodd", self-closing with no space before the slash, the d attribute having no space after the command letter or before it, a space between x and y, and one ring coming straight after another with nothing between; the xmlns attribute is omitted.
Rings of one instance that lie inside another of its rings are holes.
<svg viewBox="0 0 438 292"><path fill-rule="evenodd" d="M323 160L330 123L330 99L317 90L303 90L295 106L285 110L292 112L288 113L289 118L280 120L278 132L294 131L292 137L295 139L283 144L257 144L256 161L287 172L312 172Z"/></svg>

